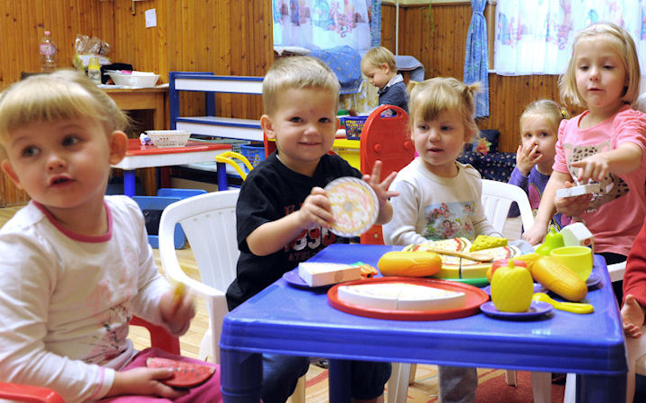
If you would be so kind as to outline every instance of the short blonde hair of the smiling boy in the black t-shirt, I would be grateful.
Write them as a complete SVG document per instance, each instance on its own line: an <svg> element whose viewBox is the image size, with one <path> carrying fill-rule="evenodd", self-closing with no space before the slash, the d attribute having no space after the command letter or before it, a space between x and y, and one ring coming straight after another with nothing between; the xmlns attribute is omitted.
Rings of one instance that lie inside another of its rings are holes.
<svg viewBox="0 0 646 403"><path fill-rule="evenodd" d="M319 59L311 56L289 56L278 59L263 80L263 107L266 115L275 112L278 98L285 90L319 88L336 94L339 82L335 73Z"/></svg>

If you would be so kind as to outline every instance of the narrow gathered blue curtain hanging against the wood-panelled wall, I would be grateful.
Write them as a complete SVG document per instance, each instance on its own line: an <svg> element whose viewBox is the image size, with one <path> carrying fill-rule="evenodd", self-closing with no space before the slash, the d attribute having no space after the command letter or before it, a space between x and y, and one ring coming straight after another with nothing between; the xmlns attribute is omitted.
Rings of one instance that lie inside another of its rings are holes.
<svg viewBox="0 0 646 403"><path fill-rule="evenodd" d="M485 20L486 0L471 0L471 23L467 32L464 81L480 81L482 92L476 93L476 117L489 116L489 56Z"/></svg>

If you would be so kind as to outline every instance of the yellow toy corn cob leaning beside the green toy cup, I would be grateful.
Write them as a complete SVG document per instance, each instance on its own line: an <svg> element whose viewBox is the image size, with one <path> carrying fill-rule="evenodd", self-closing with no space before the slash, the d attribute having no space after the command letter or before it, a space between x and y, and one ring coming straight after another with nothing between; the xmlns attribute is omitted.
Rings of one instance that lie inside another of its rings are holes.
<svg viewBox="0 0 646 403"><path fill-rule="evenodd" d="M579 302L588 295L585 281L552 256L540 256L531 265L531 274L543 287L569 301Z"/></svg>

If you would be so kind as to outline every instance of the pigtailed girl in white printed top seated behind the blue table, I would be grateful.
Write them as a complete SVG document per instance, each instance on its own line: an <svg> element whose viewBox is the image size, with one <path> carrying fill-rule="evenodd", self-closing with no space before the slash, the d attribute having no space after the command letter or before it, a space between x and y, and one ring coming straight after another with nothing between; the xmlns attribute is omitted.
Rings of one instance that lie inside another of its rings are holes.
<svg viewBox="0 0 646 403"><path fill-rule="evenodd" d="M391 186L399 196L392 201L393 218L382 227L385 243L502 236L485 218L480 174L456 161L478 130L477 84L437 77L409 87L411 138L419 157L399 171ZM440 365L439 377L441 401L476 400L476 368Z"/></svg>

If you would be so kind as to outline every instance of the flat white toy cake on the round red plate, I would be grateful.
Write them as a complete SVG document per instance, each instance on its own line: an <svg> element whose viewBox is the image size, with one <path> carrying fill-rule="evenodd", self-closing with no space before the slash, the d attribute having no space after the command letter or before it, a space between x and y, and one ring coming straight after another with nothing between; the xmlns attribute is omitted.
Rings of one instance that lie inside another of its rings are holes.
<svg viewBox="0 0 646 403"><path fill-rule="evenodd" d="M465 294L407 283L358 284L338 287L338 299L391 311L442 311L465 305Z"/></svg>

